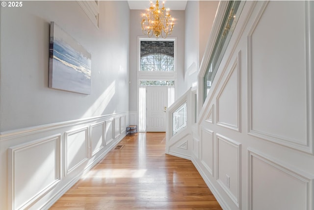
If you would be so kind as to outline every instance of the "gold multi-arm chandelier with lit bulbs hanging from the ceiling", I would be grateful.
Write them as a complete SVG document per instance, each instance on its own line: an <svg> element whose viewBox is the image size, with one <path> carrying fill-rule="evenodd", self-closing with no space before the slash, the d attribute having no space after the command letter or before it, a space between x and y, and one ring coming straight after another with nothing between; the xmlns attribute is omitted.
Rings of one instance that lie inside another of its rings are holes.
<svg viewBox="0 0 314 210"><path fill-rule="evenodd" d="M174 26L174 19L170 15L170 9L165 8L164 2L162 3L162 8L159 8L159 1L156 4L151 2L151 6L147 9L146 14L143 14L142 19L142 31L144 35L148 37L156 36L156 39L161 36L166 38L168 35L172 34L172 29Z"/></svg>

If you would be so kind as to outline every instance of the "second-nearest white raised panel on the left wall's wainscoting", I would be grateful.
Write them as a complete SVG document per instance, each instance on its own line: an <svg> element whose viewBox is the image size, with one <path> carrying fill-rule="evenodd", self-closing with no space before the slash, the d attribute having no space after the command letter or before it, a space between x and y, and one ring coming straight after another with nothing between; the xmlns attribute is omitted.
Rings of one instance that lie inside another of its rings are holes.
<svg viewBox="0 0 314 210"><path fill-rule="evenodd" d="M82 165L89 157L88 127L65 132L64 176Z"/></svg>

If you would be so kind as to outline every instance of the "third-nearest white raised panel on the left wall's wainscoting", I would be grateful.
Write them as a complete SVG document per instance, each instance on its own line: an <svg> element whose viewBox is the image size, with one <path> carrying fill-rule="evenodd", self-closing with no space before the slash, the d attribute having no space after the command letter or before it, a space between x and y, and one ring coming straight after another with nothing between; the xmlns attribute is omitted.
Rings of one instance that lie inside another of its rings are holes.
<svg viewBox="0 0 314 210"><path fill-rule="evenodd" d="M99 131L101 129L101 131ZM95 137L97 135L100 135L100 138L97 139ZM90 125L90 143L91 143L91 153L92 156L96 155L100 150L102 150L106 143L105 143L105 122L100 122L96 124Z"/></svg>

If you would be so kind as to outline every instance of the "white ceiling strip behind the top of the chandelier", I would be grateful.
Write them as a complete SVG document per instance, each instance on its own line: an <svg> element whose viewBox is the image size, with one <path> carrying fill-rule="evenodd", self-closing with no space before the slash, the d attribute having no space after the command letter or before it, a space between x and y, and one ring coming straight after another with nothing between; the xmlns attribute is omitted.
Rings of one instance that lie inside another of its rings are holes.
<svg viewBox="0 0 314 210"><path fill-rule="evenodd" d="M155 0L152 0L156 3ZM128 0L130 9L147 9L150 6L150 0ZM185 10L187 0L165 0L165 8L170 10ZM162 6L162 0L159 0L159 7Z"/></svg>

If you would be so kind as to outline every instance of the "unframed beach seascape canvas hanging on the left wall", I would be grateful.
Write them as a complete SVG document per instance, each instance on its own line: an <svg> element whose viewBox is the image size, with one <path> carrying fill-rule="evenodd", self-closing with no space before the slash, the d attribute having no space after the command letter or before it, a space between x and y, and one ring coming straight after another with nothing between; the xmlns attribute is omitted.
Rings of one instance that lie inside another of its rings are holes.
<svg viewBox="0 0 314 210"><path fill-rule="evenodd" d="M91 54L51 22L49 87L82 94L91 91Z"/></svg>

